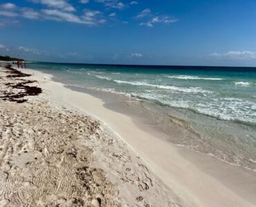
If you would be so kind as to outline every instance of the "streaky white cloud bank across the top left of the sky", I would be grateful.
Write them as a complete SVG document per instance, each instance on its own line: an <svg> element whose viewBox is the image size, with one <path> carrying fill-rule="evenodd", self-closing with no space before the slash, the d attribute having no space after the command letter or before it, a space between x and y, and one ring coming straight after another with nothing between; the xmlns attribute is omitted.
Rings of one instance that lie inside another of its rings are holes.
<svg viewBox="0 0 256 207"><path fill-rule="evenodd" d="M30 20L48 20L48 21L62 21L69 23L80 23L87 26L98 26L103 23L128 23L129 17L122 19L122 10L131 9L138 4L138 1L122 2L120 0L77 0L77 3L72 3L68 0L27 0L35 3L40 7L29 8L20 7L15 3L0 4L0 26L5 26L21 21L21 18ZM98 3L104 8L102 10L91 10L91 3L93 5ZM78 5L78 6L77 6ZM79 6L80 5L80 6ZM86 9L84 9L86 5ZM118 14L117 12L118 11ZM104 14L108 12L108 14ZM120 14L119 14L120 12ZM132 12L131 12L132 14ZM131 16L133 17L133 15ZM145 8L133 20L140 21L140 26L153 27L156 23L173 23L178 19L168 15L153 14L152 10ZM143 21L143 22L141 22Z"/></svg>

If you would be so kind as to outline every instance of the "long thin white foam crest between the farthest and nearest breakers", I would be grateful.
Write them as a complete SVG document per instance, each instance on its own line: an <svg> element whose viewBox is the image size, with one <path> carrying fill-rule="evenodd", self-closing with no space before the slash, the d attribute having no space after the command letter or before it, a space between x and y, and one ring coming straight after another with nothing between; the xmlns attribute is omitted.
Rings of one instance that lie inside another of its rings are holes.
<svg viewBox="0 0 256 207"><path fill-rule="evenodd" d="M160 89L165 89L165 90L174 90L174 91L179 91L179 92L191 92L191 93L197 93L197 92L203 92L203 93L212 93L208 90L203 90L201 88L182 88L182 87L177 87L177 86L163 86L163 85L156 85L156 84L151 84L151 83L146 83L146 82L139 82L139 81L120 81L120 80L113 80L116 83L125 83L133 86L148 86L148 87L153 87L153 88L160 88Z"/></svg>

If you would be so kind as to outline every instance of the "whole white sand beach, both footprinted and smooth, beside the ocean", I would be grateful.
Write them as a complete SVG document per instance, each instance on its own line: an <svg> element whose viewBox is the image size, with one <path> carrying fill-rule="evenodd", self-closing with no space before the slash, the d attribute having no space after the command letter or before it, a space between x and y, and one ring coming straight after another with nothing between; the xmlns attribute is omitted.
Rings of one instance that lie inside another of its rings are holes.
<svg viewBox="0 0 256 207"><path fill-rule="evenodd" d="M0 206L256 206L256 173L174 146L51 75L24 103L0 99ZM36 159L35 159L36 158Z"/></svg>

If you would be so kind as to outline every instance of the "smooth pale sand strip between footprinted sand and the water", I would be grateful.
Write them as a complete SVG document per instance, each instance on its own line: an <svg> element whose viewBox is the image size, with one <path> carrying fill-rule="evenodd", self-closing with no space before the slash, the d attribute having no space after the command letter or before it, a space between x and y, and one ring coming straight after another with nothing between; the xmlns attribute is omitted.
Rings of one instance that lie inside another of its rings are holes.
<svg viewBox="0 0 256 207"><path fill-rule="evenodd" d="M41 79L42 77L48 81L51 79L50 75L37 70L26 71L35 73L37 77L41 76ZM193 204L196 206L254 206L256 204L253 197L255 188L252 186L256 181L254 173L236 166L228 166L228 164L210 156L179 148L158 139L158 137L149 135L138 128L131 117L104 108L104 101L83 92L65 88L62 83L50 82L47 83L48 90L54 88L55 94L58 94L58 97L51 97L53 102L82 110L107 124L151 166L154 173L161 177L167 186L185 199L188 206ZM64 100L64 97L69 101ZM95 112L95 108L97 108L97 112ZM127 136L131 133L131 128L133 129L132 135L141 140L131 139ZM158 157L155 157L152 152ZM174 166L176 169L173 168ZM214 166L218 166L219 169L214 169ZM228 173L226 172L227 169ZM232 176L229 175L229 172L232 172ZM239 181L240 178L243 181ZM208 192L206 193L208 195L205 195L205 190L214 192ZM215 203L217 200L219 203Z"/></svg>

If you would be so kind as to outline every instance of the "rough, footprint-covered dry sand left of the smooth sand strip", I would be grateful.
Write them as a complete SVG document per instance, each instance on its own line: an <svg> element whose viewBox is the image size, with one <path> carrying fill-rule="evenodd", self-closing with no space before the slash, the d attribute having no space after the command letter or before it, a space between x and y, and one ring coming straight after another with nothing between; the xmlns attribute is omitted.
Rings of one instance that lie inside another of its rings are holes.
<svg viewBox="0 0 256 207"><path fill-rule="evenodd" d="M0 206L180 206L104 124L49 91L26 96L46 83L10 72L0 68Z"/></svg>

